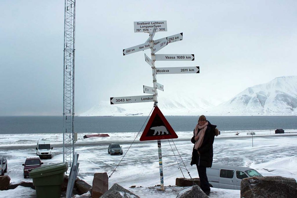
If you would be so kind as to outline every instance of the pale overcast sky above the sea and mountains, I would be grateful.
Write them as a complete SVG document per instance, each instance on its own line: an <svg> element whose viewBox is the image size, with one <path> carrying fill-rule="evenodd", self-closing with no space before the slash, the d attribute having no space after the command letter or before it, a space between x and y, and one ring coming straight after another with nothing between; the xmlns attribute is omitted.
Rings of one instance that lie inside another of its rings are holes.
<svg viewBox="0 0 297 198"><path fill-rule="evenodd" d="M297 1L76 1L75 113L110 97L138 96L152 86L140 51L147 33L134 21L167 20L183 32L157 54L195 54L195 61L157 61L156 67L200 66L200 74L157 75L159 96L182 92L217 103L279 76L297 75ZM64 1L0 1L0 115L62 115ZM162 101L159 101L162 102ZM152 104L153 105L153 104Z"/></svg>

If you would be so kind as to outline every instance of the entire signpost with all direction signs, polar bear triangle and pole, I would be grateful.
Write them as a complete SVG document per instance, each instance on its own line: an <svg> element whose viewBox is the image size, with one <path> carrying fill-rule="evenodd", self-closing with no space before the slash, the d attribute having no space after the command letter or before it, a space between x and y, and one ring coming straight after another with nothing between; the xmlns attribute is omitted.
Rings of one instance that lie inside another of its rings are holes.
<svg viewBox="0 0 297 198"><path fill-rule="evenodd" d="M153 40L155 33L167 31L167 21L137 21L134 22L134 32L149 33L149 38L143 44L123 49L123 55L151 49L151 58L145 56L145 61L151 66L153 74L153 87L143 85L143 93L153 94L147 96L124 96L110 98L110 104L122 104L133 102L154 102L154 111L140 137L140 141L158 140L159 170L161 190L164 190L163 166L161 140L178 138L162 112L158 108L158 92L164 91L164 86L157 83L157 74L191 74L199 73L196 67L155 67L155 61L194 61L194 54L155 54L169 43L181 41L183 33L174 34L169 37Z"/></svg>

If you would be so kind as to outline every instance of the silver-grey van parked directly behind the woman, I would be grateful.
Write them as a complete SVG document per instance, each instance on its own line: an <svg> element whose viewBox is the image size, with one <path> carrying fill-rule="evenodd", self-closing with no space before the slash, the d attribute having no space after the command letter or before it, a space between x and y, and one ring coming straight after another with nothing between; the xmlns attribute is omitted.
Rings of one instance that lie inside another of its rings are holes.
<svg viewBox="0 0 297 198"><path fill-rule="evenodd" d="M262 177L260 173L249 167L225 166L214 164L206 168L206 175L211 187L240 190L241 179L252 176Z"/></svg>

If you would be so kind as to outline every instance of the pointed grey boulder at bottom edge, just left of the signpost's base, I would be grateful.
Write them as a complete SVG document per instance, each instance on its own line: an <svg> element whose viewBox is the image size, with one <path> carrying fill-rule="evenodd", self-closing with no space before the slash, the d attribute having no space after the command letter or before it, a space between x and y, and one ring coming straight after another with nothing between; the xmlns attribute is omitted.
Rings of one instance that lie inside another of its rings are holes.
<svg viewBox="0 0 297 198"><path fill-rule="evenodd" d="M140 198L136 194L115 183L100 198Z"/></svg>

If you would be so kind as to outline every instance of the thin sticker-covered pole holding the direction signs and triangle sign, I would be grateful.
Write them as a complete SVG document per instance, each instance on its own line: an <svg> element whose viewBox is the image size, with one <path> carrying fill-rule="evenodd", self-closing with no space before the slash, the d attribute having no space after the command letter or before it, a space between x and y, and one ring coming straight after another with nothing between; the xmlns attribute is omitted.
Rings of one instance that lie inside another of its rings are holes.
<svg viewBox="0 0 297 198"><path fill-rule="evenodd" d="M155 27L156 28L156 27ZM151 60L152 60L152 73L153 73L153 85L155 89L154 94L154 106L158 106L158 91L157 91L157 69L155 67L155 54L154 54L154 41L153 41L153 32L155 30L151 31L149 34L151 42L150 42L150 48L151 48ZM164 177L163 177L163 163L162 163L162 149L161 149L161 140L158 140L158 155L159 155L159 170L160 170L160 186L161 190L164 191Z"/></svg>

